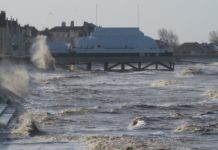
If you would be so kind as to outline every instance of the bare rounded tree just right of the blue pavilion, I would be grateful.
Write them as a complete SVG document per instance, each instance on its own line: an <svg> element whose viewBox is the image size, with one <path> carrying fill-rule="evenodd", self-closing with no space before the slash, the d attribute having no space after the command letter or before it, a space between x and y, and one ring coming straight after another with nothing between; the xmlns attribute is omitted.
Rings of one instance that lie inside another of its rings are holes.
<svg viewBox="0 0 218 150"><path fill-rule="evenodd" d="M165 28L158 30L159 38L162 42L166 43L171 48L176 48L179 45L178 36L171 30Z"/></svg>

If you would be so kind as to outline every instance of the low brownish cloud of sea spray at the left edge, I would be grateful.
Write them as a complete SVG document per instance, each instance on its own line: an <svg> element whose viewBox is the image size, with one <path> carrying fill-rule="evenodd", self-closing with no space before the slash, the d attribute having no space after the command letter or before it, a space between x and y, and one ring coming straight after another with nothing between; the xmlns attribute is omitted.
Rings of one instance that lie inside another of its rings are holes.
<svg viewBox="0 0 218 150"><path fill-rule="evenodd" d="M24 65L15 65L8 61L0 63L0 85L18 96L29 93L29 74Z"/></svg>

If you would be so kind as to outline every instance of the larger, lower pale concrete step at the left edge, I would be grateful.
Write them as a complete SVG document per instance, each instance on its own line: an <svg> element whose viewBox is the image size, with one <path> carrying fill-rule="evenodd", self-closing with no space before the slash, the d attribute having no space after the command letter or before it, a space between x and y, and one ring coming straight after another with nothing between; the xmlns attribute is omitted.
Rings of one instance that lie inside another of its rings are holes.
<svg viewBox="0 0 218 150"><path fill-rule="evenodd" d="M0 115L0 128L4 128L8 125L12 117L16 112L15 108L7 107L5 111Z"/></svg>

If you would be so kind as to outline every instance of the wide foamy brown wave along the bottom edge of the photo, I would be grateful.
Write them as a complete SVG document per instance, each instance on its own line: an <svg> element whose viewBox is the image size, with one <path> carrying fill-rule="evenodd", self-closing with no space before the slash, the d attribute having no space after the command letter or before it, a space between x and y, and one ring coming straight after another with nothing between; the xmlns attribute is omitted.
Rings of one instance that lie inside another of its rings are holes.
<svg viewBox="0 0 218 150"><path fill-rule="evenodd" d="M154 150L154 149L178 149L172 148L175 140L161 138L142 138L136 136L86 136L80 138L92 150ZM179 147L180 149L180 147ZM182 148L181 148L182 149Z"/></svg>

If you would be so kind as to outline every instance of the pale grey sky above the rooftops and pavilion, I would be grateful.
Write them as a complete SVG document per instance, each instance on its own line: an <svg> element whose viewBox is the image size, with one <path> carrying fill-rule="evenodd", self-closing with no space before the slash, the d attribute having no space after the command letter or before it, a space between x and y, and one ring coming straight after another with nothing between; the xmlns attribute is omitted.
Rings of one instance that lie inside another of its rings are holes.
<svg viewBox="0 0 218 150"><path fill-rule="evenodd" d="M0 10L8 18L40 30L62 21L95 24L96 5L99 26L138 27L139 16L140 30L154 39L160 28L166 28L180 43L202 43L208 42L209 32L218 30L218 0L0 0Z"/></svg>

